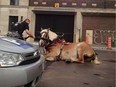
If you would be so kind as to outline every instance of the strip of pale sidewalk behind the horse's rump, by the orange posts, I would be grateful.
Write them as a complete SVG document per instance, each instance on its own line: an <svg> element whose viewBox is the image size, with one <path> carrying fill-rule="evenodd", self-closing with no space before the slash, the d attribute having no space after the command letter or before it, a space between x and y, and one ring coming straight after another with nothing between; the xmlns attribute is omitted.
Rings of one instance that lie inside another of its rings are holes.
<svg viewBox="0 0 116 87"><path fill-rule="evenodd" d="M111 47L111 49L109 49L107 45L92 44L91 46L94 50L116 51L116 47Z"/></svg>

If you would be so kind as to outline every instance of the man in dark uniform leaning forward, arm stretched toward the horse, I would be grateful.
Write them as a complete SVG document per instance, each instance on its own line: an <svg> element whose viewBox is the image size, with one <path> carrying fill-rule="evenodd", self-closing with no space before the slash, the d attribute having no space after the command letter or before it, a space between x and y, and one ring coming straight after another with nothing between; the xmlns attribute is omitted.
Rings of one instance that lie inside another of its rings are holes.
<svg viewBox="0 0 116 87"><path fill-rule="evenodd" d="M27 18L22 22L16 23L14 27L11 29L10 33L7 34L7 36L15 37L21 40L24 40L23 38L23 32L25 31L26 34L28 34L30 37L35 38L35 35L33 35L29 31L29 23L30 20Z"/></svg>

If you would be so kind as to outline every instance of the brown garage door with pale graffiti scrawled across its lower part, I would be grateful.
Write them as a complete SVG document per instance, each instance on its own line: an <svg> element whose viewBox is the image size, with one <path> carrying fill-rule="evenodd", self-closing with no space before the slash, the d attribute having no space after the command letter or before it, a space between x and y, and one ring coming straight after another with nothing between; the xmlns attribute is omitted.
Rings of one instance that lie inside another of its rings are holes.
<svg viewBox="0 0 116 87"><path fill-rule="evenodd" d="M93 33L88 33L92 31ZM83 15L83 40L86 36L91 44L107 44L108 37L115 38L115 14L90 14Z"/></svg>

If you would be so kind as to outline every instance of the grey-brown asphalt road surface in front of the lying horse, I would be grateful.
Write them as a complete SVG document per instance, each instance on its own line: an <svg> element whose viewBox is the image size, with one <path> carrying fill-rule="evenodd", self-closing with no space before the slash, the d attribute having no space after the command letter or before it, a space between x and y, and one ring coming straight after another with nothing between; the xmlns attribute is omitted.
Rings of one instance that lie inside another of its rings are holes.
<svg viewBox="0 0 116 87"><path fill-rule="evenodd" d="M102 64L48 63L38 87L115 87L116 52L97 51Z"/></svg>

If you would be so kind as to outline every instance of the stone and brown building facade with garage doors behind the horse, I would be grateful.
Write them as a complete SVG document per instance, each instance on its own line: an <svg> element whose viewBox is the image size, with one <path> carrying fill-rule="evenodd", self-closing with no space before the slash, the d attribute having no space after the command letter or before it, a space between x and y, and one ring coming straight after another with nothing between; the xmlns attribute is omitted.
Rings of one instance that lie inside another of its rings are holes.
<svg viewBox="0 0 116 87"><path fill-rule="evenodd" d="M107 44L116 35L115 8L115 0L0 0L0 31L29 18L35 40L42 27L63 32L67 41Z"/></svg>

